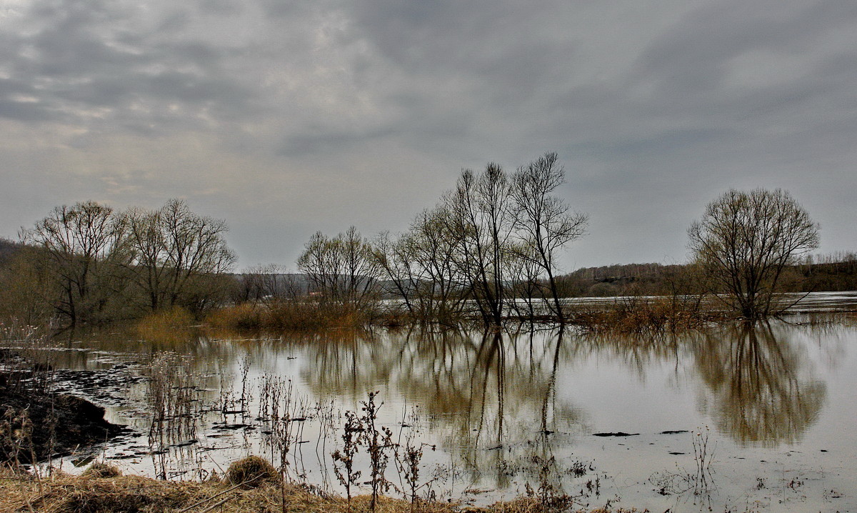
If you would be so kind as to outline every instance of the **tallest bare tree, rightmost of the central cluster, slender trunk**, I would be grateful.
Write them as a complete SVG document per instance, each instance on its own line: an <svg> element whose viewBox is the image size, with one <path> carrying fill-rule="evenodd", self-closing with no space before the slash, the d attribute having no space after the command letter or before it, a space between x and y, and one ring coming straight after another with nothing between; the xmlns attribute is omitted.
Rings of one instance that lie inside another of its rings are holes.
<svg viewBox="0 0 857 513"><path fill-rule="evenodd" d="M571 213L554 191L565 183L565 171L555 153L548 153L518 168L512 176L512 197L522 244L516 256L542 269L548 280L547 294L553 299L554 316L565 322L556 284L556 253L584 235L589 217ZM523 249L523 250L522 250ZM538 283L538 281L536 281Z"/></svg>

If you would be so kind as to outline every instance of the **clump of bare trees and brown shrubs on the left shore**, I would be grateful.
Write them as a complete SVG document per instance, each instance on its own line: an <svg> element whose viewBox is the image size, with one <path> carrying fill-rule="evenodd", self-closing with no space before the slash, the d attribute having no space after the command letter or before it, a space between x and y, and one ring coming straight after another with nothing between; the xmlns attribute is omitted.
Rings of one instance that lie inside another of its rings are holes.
<svg viewBox="0 0 857 513"><path fill-rule="evenodd" d="M124 212L97 202L51 210L0 253L0 317L63 326L139 318L182 307L200 316L222 304L235 256L226 225L179 200Z"/></svg>

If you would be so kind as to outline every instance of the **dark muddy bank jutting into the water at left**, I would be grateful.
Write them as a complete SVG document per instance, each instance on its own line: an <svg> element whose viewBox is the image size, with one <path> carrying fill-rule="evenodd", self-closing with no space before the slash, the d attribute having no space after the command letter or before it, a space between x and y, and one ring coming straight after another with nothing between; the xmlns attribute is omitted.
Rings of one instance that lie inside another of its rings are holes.
<svg viewBox="0 0 857 513"><path fill-rule="evenodd" d="M41 461L126 431L105 420L103 407L56 393L50 368L21 369L21 359L9 352L0 353L0 364L0 461Z"/></svg>

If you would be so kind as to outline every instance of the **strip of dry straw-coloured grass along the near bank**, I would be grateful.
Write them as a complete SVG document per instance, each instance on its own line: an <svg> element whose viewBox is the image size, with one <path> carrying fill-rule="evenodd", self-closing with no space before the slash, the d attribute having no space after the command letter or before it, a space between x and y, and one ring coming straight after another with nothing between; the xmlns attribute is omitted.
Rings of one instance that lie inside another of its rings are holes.
<svg viewBox="0 0 857 513"><path fill-rule="evenodd" d="M379 513L497 512L536 513L552 511L538 498L519 498L484 508L454 503L410 504L381 498ZM564 511L569 509L563 508ZM610 510L574 510L610 513ZM345 498L310 492L294 484L264 483L255 488L231 486L225 481L163 481L140 476L112 477L57 473L36 480L27 474L0 472L0 511L3 513L45 511L50 513L309 513L349 511ZM354 513L369 511L369 496L351 500ZM632 513L637 510L614 510Z"/></svg>

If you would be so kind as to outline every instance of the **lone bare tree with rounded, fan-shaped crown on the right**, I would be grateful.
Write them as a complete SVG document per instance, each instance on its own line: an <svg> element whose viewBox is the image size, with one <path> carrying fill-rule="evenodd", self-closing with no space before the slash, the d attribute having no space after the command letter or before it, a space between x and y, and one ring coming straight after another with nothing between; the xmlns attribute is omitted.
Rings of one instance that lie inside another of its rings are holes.
<svg viewBox="0 0 857 513"><path fill-rule="evenodd" d="M742 317L770 315L783 269L818 247L818 224L785 190L728 190L688 229L714 292Z"/></svg>

